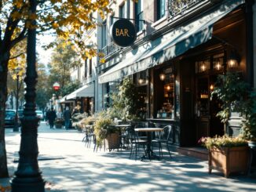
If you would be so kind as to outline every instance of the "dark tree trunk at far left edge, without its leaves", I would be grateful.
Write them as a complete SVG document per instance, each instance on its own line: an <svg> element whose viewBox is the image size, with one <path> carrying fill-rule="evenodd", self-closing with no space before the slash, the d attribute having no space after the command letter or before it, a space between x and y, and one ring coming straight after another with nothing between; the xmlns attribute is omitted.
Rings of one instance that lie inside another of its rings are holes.
<svg viewBox="0 0 256 192"><path fill-rule="evenodd" d="M7 96L8 53L0 53L0 178L9 177L5 150L5 102Z"/></svg>

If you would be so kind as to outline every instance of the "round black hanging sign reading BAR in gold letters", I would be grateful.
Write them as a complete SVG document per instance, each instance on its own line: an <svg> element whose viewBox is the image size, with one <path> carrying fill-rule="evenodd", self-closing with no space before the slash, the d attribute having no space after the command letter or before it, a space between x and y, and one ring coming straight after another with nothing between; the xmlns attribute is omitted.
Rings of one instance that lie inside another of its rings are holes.
<svg viewBox="0 0 256 192"><path fill-rule="evenodd" d="M110 30L113 41L116 45L127 47L136 40L137 31L130 20L120 19L115 21Z"/></svg>

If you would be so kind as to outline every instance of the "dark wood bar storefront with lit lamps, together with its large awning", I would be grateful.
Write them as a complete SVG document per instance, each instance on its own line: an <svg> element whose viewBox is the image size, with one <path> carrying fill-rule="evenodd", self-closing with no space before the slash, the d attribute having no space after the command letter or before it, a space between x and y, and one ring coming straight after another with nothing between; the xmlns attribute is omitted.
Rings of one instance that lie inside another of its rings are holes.
<svg viewBox="0 0 256 192"><path fill-rule="evenodd" d="M99 82L133 77L140 117L157 126L173 125L176 145L195 146L202 136L223 135L224 125L216 118L221 103L210 93L218 74L237 71L248 77L247 44L252 37L246 18L243 1L221 2L126 53L127 59L102 74Z"/></svg>

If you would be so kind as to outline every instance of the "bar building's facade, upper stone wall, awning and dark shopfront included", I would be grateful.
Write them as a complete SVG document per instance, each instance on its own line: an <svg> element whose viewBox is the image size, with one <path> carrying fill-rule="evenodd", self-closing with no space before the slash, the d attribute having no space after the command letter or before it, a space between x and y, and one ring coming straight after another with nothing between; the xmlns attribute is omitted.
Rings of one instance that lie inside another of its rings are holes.
<svg viewBox="0 0 256 192"><path fill-rule="evenodd" d="M192 146L202 136L239 132L237 123L230 121L225 130L216 118L221 103L210 100L210 92L218 74L228 71L255 85L254 1L127 0L110 7L113 13L100 33L106 61L98 69L102 108L115 85L129 76L141 98L138 114L159 126L174 125L174 144ZM129 47L110 38L119 18L132 20L137 29Z"/></svg>

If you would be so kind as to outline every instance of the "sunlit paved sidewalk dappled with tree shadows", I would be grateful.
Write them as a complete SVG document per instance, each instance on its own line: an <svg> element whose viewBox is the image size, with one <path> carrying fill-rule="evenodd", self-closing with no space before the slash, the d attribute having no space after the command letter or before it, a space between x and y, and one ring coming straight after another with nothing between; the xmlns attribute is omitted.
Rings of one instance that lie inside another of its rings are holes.
<svg viewBox="0 0 256 192"><path fill-rule="evenodd" d="M129 151L98 151L82 143L76 130L38 129L39 167L46 191L256 191L256 177L207 173L207 161L166 153L161 161L134 161ZM9 174L13 176L20 133L6 129ZM0 179L9 186L9 179ZM21 191L23 192L23 191Z"/></svg>

